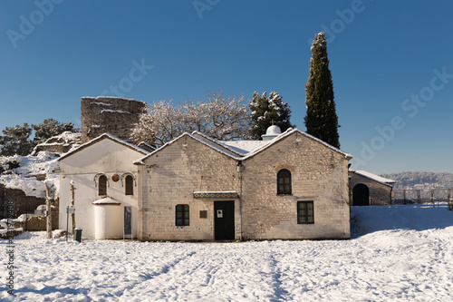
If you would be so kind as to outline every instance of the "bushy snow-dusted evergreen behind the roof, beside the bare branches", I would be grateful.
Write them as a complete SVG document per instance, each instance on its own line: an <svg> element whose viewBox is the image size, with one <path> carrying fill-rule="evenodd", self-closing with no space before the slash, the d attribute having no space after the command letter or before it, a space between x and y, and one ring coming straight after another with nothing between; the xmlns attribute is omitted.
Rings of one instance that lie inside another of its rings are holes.
<svg viewBox="0 0 453 302"><path fill-rule="evenodd" d="M254 93L250 101L250 112L252 127L251 136L254 140L260 140L267 128L275 124L282 132L288 128L295 127L291 124L291 108L287 102L282 101L278 93L272 92L267 97L266 93L259 95Z"/></svg>

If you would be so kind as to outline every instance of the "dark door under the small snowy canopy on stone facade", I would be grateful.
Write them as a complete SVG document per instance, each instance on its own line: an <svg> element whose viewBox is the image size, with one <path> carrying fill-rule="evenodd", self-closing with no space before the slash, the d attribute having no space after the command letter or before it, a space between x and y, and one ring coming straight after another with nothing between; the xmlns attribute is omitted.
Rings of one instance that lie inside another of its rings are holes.
<svg viewBox="0 0 453 302"><path fill-rule="evenodd" d="M235 201L214 201L216 240L235 239Z"/></svg>

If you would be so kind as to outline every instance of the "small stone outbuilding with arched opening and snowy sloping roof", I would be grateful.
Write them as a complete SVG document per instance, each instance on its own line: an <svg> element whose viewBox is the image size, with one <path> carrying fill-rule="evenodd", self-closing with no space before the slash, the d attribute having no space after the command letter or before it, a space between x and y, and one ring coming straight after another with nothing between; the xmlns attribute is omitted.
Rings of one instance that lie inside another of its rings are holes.
<svg viewBox="0 0 453 302"><path fill-rule="evenodd" d="M395 180L389 180L364 170L350 170L352 206L390 205L394 197Z"/></svg>

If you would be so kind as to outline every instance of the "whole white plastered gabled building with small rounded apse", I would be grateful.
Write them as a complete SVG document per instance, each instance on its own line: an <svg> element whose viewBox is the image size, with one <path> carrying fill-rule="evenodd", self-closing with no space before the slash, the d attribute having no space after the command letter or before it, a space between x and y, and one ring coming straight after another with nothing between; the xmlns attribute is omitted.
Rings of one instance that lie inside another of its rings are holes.
<svg viewBox="0 0 453 302"><path fill-rule="evenodd" d="M125 234L137 237L138 169L133 161L148 153L103 134L59 159L60 209L71 205L72 181L76 189L75 225L83 229L83 236L94 239L122 239ZM63 210L60 210L60 229L66 229Z"/></svg>

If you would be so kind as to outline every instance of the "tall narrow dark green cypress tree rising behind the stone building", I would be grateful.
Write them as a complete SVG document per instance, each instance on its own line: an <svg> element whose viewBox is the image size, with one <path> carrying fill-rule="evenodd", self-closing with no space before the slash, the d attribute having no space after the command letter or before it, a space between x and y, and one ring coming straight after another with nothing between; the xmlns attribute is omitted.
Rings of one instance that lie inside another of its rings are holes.
<svg viewBox="0 0 453 302"><path fill-rule="evenodd" d="M338 117L333 101L332 74L329 70L324 33L316 34L311 50L310 75L305 85L305 127L307 133L340 148Z"/></svg>

